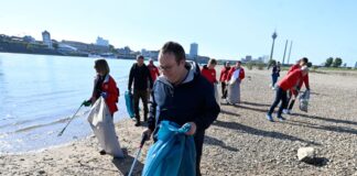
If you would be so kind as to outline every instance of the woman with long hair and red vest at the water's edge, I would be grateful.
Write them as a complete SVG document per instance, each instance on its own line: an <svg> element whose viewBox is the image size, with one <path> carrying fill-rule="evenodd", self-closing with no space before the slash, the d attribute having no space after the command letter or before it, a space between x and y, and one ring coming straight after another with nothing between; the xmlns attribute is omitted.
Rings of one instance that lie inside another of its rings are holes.
<svg viewBox="0 0 357 176"><path fill-rule="evenodd" d="M83 105L89 107L90 105L94 105L97 99L102 97L112 118L113 113L118 111L117 102L120 96L117 82L109 75L110 69L106 59L95 61L94 68L97 72L97 76L95 77L93 94L89 100L84 101ZM106 151L101 150L99 153L104 155L106 154Z"/></svg>

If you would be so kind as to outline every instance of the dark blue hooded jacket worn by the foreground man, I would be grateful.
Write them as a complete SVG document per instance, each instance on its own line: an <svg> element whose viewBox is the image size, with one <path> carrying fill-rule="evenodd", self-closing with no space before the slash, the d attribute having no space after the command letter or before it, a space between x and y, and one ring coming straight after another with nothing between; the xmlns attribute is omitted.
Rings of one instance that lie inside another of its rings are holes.
<svg viewBox="0 0 357 176"><path fill-rule="evenodd" d="M187 76L180 85L172 85L160 76L153 86L152 103L149 114L149 129L158 131L158 124L167 120L183 125L195 122L197 131L206 130L218 117L219 106L214 88L201 75L195 63L186 63Z"/></svg>

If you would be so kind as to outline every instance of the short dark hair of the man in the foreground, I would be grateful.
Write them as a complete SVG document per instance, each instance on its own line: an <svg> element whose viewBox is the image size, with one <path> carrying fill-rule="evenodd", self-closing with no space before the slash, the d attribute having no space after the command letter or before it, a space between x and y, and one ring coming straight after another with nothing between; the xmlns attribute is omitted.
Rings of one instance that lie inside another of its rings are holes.
<svg viewBox="0 0 357 176"><path fill-rule="evenodd" d="M163 54L173 54L177 64L186 61L185 50L176 42L166 42L160 50L160 55Z"/></svg>

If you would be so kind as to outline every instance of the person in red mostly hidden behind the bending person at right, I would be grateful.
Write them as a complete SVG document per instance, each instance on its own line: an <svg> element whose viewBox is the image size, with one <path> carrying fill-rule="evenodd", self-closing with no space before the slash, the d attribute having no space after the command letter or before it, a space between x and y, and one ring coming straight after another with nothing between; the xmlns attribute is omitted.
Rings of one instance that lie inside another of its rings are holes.
<svg viewBox="0 0 357 176"><path fill-rule="evenodd" d="M293 66L290 67L290 69L288 70L288 75L290 73L292 73L293 70L295 69L300 69L302 66L306 66L309 63L309 59L306 57L303 57L301 59L298 61L298 63ZM299 95L299 91L302 87L302 85L305 85L305 88L307 90L310 90L310 85L309 85L309 74L306 74L302 81L299 81L299 85L298 85L298 89L296 90L292 90L292 91L289 91L289 95L288 95L288 103L286 103L286 107L283 109L283 113L286 113L286 114L290 114L294 103L295 103L295 98L294 97L298 97Z"/></svg>

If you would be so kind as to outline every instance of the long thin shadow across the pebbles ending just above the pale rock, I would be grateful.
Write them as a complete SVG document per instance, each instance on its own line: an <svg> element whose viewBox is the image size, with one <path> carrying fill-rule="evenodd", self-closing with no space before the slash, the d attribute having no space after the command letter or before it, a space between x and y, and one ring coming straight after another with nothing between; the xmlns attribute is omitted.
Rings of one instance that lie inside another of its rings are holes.
<svg viewBox="0 0 357 176"><path fill-rule="evenodd" d="M260 135L260 136L273 138L273 139L279 139L279 140L288 140L288 141L300 141L300 142L312 144L312 145L321 145L320 143L299 139L293 135L288 135L288 134L283 134L283 133L274 132L274 131L259 130L259 129L255 129L255 128L251 128L248 125L239 124L237 122L224 122L224 121L217 120L215 123L213 123L213 125L218 125L218 127L228 128L228 129L232 129L232 130L237 130L237 131L242 131L242 132L246 132L246 133L249 133L252 135Z"/></svg>

